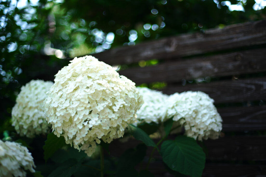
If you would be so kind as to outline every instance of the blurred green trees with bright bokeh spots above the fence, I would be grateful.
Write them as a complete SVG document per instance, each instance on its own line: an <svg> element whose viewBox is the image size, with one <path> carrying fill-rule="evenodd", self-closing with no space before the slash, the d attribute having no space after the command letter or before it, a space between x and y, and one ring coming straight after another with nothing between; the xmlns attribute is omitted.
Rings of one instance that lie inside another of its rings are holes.
<svg viewBox="0 0 266 177"><path fill-rule="evenodd" d="M0 133L20 87L69 58L266 17L265 0L0 0ZM3 135L4 136L4 135Z"/></svg>

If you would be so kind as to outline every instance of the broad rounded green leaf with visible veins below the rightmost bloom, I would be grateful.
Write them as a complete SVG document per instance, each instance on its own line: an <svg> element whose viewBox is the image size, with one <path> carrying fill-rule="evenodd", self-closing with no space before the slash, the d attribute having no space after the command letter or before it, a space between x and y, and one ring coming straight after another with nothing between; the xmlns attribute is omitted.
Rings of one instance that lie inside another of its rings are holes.
<svg viewBox="0 0 266 177"><path fill-rule="evenodd" d="M193 138L177 136L175 140L164 141L161 154L170 169L192 177L202 175L205 153Z"/></svg>

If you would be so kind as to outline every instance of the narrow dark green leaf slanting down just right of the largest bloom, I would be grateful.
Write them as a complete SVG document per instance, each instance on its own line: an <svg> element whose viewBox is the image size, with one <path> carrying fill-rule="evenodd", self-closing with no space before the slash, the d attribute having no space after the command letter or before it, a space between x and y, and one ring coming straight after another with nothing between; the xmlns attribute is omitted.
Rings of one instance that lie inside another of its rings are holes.
<svg viewBox="0 0 266 177"><path fill-rule="evenodd" d="M142 129L129 124L128 130L131 132L131 134L135 137L135 139L143 141L147 146L155 147L156 144L153 142L153 140L145 133Z"/></svg>

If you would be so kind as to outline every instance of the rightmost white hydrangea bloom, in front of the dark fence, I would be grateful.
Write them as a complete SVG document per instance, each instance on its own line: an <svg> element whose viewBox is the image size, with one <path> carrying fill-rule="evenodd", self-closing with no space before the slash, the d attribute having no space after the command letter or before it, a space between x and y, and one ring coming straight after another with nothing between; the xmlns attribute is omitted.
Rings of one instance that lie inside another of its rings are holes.
<svg viewBox="0 0 266 177"><path fill-rule="evenodd" d="M217 139L222 130L222 118L214 100L203 92L175 93L169 97L167 117L173 116L174 126L184 126L185 135L198 139ZM179 129L180 130L180 129Z"/></svg>

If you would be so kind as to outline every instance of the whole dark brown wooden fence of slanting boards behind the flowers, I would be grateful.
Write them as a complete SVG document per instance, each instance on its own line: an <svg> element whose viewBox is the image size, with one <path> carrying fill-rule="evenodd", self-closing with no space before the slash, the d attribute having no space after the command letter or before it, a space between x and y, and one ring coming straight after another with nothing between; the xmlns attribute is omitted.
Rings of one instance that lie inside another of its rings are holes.
<svg viewBox="0 0 266 177"><path fill-rule="evenodd" d="M203 141L207 148L203 176L266 176L266 20L94 56L110 65L127 64L119 73L136 84L164 82L164 93L200 90L215 100L223 118L222 137ZM138 62L154 59L157 64L138 67ZM162 164L153 162L153 173L171 176Z"/></svg>

